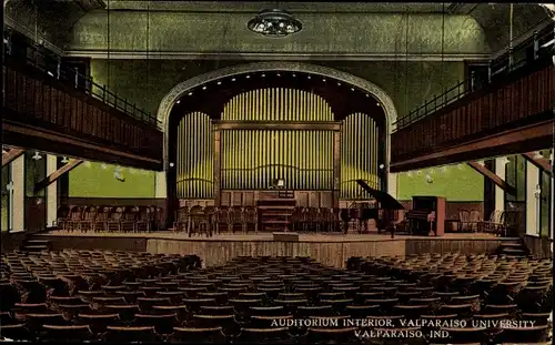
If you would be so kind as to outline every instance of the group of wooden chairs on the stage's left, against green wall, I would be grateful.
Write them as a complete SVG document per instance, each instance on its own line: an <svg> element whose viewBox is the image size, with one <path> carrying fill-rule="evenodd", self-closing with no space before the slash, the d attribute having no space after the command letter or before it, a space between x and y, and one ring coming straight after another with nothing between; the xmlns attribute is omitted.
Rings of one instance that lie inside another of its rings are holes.
<svg viewBox="0 0 555 345"><path fill-rule="evenodd" d="M56 225L70 232L150 232L160 229L161 210L158 206L62 205L58 209Z"/></svg>

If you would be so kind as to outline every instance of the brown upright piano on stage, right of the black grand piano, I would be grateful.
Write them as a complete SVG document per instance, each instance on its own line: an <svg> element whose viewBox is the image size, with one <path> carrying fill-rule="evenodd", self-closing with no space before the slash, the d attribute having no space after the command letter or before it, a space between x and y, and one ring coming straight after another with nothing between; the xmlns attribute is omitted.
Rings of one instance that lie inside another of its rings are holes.
<svg viewBox="0 0 555 345"><path fill-rule="evenodd" d="M445 232L445 197L413 196L413 209L405 215L412 235L442 236Z"/></svg>

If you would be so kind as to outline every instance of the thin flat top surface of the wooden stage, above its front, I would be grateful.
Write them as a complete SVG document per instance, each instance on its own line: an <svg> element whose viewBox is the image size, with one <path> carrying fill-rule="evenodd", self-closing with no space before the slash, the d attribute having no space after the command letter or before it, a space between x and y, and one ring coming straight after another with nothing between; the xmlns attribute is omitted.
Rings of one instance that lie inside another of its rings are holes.
<svg viewBox="0 0 555 345"><path fill-rule="evenodd" d="M201 242L273 242L273 234L266 232L259 233L223 233L214 234L212 237L206 237L204 235L193 235L189 237L185 233L178 233L172 231L159 231L159 232L79 232L79 231L50 231L42 233L38 236L78 236L78 237L128 237L128 239L152 239L152 240L178 240L178 241L201 241ZM446 233L443 236L416 236L416 235L395 235L395 239L391 239L390 234L379 234L377 232L370 232L367 234L340 234L340 233L299 233L299 242L367 242L367 241L395 241L395 240L502 240L493 234L486 233ZM503 239L509 240L509 239ZM511 239L512 240L512 239Z"/></svg>

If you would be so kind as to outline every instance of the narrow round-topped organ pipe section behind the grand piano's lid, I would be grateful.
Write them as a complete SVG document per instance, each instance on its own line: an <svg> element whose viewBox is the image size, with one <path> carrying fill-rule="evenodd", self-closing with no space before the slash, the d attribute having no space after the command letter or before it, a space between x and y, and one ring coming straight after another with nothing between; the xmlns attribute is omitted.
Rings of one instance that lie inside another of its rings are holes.
<svg viewBox="0 0 555 345"><path fill-rule="evenodd" d="M343 121L341 152L341 199L366 199L356 180L380 190L380 132L376 122L364 113L353 113Z"/></svg>

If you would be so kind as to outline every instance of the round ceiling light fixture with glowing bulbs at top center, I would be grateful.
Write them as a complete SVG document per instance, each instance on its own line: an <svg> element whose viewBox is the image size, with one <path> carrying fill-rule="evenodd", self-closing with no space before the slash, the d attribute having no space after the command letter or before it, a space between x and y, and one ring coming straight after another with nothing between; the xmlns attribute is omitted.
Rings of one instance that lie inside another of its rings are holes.
<svg viewBox="0 0 555 345"><path fill-rule="evenodd" d="M302 23L284 10L264 10L246 24L249 30L268 37L285 37L301 31Z"/></svg>

